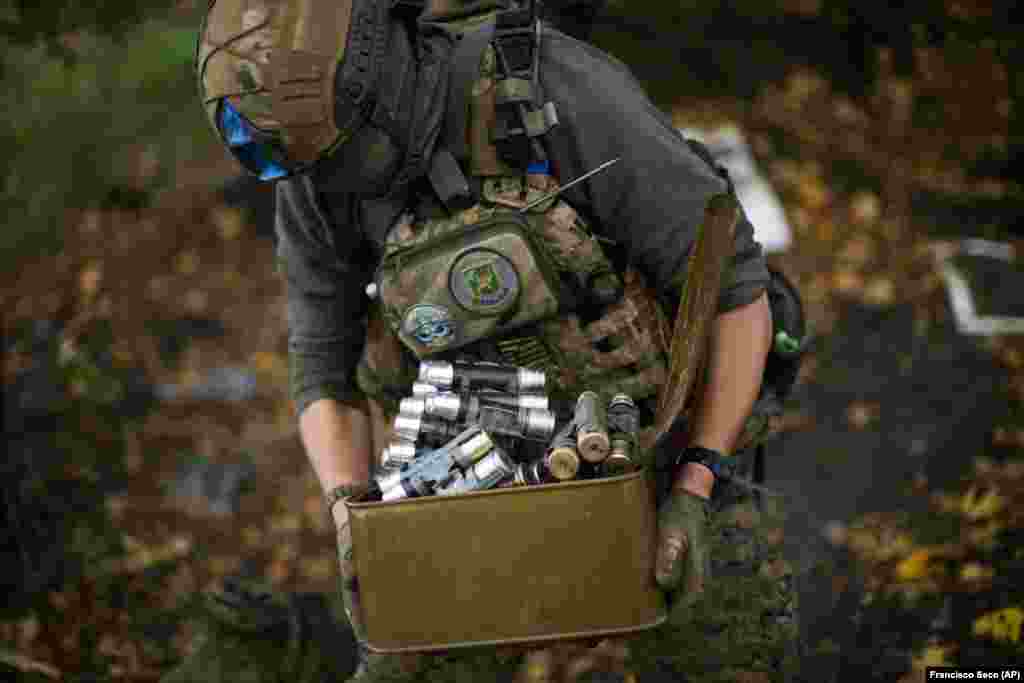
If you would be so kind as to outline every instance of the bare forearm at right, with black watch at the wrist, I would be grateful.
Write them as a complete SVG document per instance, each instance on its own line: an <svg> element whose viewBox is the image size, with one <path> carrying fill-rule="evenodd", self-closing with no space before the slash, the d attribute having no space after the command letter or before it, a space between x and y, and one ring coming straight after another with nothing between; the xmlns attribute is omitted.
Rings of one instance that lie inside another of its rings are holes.
<svg viewBox="0 0 1024 683"><path fill-rule="evenodd" d="M768 296L716 318L709 348L709 376L693 426L691 442L729 454L761 390L765 359L771 348ZM702 465L686 465L676 486L707 496L714 475Z"/></svg>

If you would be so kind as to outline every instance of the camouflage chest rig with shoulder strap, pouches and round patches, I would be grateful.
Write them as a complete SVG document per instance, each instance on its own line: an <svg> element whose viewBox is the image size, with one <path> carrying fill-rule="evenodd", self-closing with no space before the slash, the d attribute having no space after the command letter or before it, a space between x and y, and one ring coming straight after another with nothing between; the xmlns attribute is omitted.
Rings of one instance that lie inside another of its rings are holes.
<svg viewBox="0 0 1024 683"><path fill-rule="evenodd" d="M544 370L556 397L652 399L667 321L640 274L616 270L586 219L550 197L559 184L541 139L557 114L537 104L539 25L525 10L474 24L453 59L436 199L391 227L371 286L371 339L389 331L402 357L368 345L360 388L393 410L417 360L461 357Z"/></svg>

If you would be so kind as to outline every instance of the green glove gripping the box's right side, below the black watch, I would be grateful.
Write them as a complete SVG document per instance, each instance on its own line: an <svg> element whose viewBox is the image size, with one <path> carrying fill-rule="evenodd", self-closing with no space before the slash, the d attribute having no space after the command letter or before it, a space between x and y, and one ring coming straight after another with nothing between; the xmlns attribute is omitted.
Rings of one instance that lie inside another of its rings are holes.
<svg viewBox="0 0 1024 683"><path fill-rule="evenodd" d="M672 492L657 511L654 580L668 592L677 621L703 592L710 574L709 502Z"/></svg>

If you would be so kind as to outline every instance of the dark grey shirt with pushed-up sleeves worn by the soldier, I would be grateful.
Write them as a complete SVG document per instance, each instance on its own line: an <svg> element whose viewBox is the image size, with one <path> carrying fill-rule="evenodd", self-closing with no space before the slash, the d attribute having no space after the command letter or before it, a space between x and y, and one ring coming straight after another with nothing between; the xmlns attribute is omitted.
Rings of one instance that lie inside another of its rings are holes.
<svg viewBox="0 0 1024 683"><path fill-rule="evenodd" d="M621 61L554 30L544 34L541 85L559 125L546 137L555 177L565 183L609 159L608 170L563 196L595 231L625 250L647 283L672 297L707 201L726 182L698 157ZM365 290L382 234L374 203L308 176L278 184L280 267L288 285L292 396L299 412L331 397L360 398L354 371L366 335ZM394 203L391 203L394 206ZM374 224L371 230L370 225ZM745 217L736 230L719 309L757 299L768 270Z"/></svg>

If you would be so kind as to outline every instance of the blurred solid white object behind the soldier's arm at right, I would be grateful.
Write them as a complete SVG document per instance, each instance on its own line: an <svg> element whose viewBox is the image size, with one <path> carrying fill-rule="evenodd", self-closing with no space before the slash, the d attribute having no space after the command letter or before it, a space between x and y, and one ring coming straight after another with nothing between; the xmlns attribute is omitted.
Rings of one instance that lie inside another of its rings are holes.
<svg viewBox="0 0 1024 683"><path fill-rule="evenodd" d="M754 239L768 253L783 252L793 242L793 229L778 195L758 172L743 134L734 125L715 130L681 128L684 136L702 142L716 162L725 167L736 187L736 197L754 224Z"/></svg>

